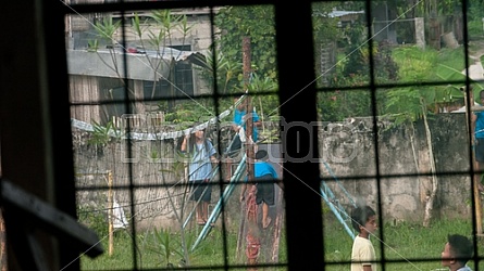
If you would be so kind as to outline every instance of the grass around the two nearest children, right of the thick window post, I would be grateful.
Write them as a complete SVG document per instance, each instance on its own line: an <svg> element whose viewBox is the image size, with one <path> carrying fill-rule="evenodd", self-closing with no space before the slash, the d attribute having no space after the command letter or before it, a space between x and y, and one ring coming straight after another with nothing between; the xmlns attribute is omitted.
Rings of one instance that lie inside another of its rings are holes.
<svg viewBox="0 0 484 271"><path fill-rule="evenodd" d="M326 218L326 220L333 217ZM382 228L381 224L378 224ZM340 264L338 262L349 261L351 255L352 242L349 237L344 236L343 227L333 223L327 227L324 233L325 240L325 259L334 262L326 270L348 270L349 264ZM447 242L447 234L459 233L471 237L472 223L469 220L446 220L436 221L431 228L424 228L419 224L409 222L386 222L383 225L384 236L381 237L382 229L380 229L370 240L372 241L377 257L381 257L381 249L384 249L387 261L385 270L435 270L442 268L440 253ZM380 240L383 240L380 242ZM484 248L482 242L479 243L479 249ZM473 262L468 262L474 269ZM480 269L484 267L481 263ZM380 267L378 270L382 270Z"/></svg>

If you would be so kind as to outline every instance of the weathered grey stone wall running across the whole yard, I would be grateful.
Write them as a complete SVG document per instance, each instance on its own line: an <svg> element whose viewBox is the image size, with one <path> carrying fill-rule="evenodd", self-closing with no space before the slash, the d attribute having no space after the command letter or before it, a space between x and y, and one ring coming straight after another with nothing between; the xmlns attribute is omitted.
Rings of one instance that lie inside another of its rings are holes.
<svg viewBox="0 0 484 271"><path fill-rule="evenodd" d="M314 162L320 163L321 177L343 206L349 208L358 201L374 207L381 203L382 215L387 221L423 220L433 175L422 121L393 127L390 121L378 120L377 133L372 118L323 122L321 128L321 158ZM432 116L430 129L438 180L434 217L470 218L470 149L464 114ZM223 151L227 144L224 142L231 137L229 130L220 134L223 137L220 150ZM186 170L174 152L177 139L137 141L131 147L121 141L96 147L88 144L90 132L74 129L73 136L79 205L90 203L106 210L107 172L110 171L117 186L114 192L117 204L128 220L136 219L139 227L174 225L177 217L179 222L191 212L193 203L187 201L185 186L179 185L186 183ZM133 194L129 193L132 184L140 185ZM226 184L213 188L212 208L220 198L221 189L226 189ZM239 219L238 195L239 190L235 189L227 199L225 219L228 223Z"/></svg>

